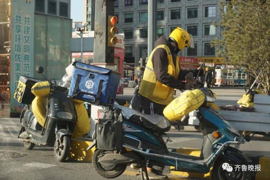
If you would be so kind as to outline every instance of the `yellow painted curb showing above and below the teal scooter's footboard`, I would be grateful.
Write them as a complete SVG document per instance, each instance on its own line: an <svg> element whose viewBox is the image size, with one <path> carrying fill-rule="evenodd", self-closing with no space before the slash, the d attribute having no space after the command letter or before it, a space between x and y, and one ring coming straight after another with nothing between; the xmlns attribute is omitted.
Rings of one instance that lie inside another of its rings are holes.
<svg viewBox="0 0 270 180"><path fill-rule="evenodd" d="M201 150L200 149L193 149L193 148L178 148L176 149L176 152L178 153L182 153L182 154L188 154L188 155L192 155L192 156L196 156L199 157L201 154ZM174 169L175 167L171 166L170 169ZM207 174L203 174L203 173L187 173L187 172L182 172L182 171L171 171L170 174L174 175L174 176L181 176L181 177L185 177L185 178L204 178L204 179L211 179L211 172L212 172L212 168L210 169L210 172Z"/></svg>

